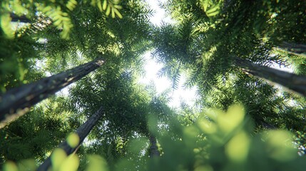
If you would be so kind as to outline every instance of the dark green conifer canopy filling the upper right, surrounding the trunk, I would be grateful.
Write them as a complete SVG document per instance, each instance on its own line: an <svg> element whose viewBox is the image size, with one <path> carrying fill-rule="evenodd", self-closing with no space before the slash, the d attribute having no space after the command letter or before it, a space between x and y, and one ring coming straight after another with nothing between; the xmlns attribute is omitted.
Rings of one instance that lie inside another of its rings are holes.
<svg viewBox="0 0 306 171"><path fill-rule="evenodd" d="M176 22L155 28L154 53L158 61L165 63L161 73L173 78L174 85L181 71L187 71L189 78L185 85L198 86L200 105L224 110L232 103L243 103L258 126L263 122L277 128L303 129L297 126L304 123L302 115L288 113L295 107L287 105L286 98L277 95L277 89L241 72L243 68L233 64L233 57L264 66L275 63L297 66L296 71L302 74L305 59L281 54L273 47L289 39L305 41L305 33L297 31L305 27L304 16L296 21L296 15L306 7L304 2L173 0L163 7ZM282 20L295 23L285 26L290 34L278 29L283 22L278 21L279 15L284 16ZM275 33L276 30L280 32ZM297 33L300 36L294 36Z"/></svg>

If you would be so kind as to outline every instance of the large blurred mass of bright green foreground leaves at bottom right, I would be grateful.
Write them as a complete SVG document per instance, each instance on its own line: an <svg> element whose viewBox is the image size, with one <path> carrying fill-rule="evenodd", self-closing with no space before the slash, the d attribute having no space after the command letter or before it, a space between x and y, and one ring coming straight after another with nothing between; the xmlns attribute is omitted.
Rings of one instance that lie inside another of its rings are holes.
<svg viewBox="0 0 306 171"><path fill-rule="evenodd" d="M173 120L170 127L179 138L167 130L156 134L164 153L149 161L148 170L303 170L292 135L268 130L250 136L250 120L239 105L227 113L207 110L189 126Z"/></svg>

